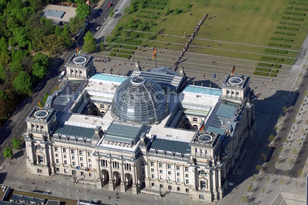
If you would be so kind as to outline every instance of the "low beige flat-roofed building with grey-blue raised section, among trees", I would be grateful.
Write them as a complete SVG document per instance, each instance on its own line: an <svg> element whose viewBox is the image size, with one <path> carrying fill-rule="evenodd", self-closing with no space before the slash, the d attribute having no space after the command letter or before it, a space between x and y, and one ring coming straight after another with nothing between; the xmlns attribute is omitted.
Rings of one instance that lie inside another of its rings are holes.
<svg viewBox="0 0 308 205"><path fill-rule="evenodd" d="M43 15L48 18L52 19L55 22L66 22L70 21L70 18L76 15L76 8L70 6L58 6L48 4L44 10Z"/></svg>

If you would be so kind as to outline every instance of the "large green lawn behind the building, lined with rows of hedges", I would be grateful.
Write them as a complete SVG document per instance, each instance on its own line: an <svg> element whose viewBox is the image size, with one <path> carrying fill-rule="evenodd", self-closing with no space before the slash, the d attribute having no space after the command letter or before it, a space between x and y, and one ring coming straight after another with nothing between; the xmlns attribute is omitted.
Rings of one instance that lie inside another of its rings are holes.
<svg viewBox="0 0 308 205"><path fill-rule="evenodd" d="M114 43L148 47L155 44L161 49L171 43L168 49L180 51L187 42L183 32L190 35L209 13L209 17L216 17L205 20L187 52L256 61L256 66L258 62L282 64L284 68L283 65L295 62L308 33L308 5L299 5L300 1L291 4L289 0L193 0L189 1L190 11L184 0L147 0L142 9L138 0L132 2L136 11L120 20L120 30L111 34L116 36ZM143 29L140 24L144 24ZM164 36L156 35L157 32Z"/></svg>

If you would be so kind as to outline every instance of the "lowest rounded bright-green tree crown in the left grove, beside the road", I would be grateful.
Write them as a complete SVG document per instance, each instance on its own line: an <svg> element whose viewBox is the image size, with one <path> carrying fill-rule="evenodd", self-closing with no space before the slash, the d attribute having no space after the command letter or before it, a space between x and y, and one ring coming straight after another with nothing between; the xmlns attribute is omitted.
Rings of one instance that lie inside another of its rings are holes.
<svg viewBox="0 0 308 205"><path fill-rule="evenodd" d="M25 71L20 71L18 76L14 79L13 86L20 94L31 96L31 77Z"/></svg>

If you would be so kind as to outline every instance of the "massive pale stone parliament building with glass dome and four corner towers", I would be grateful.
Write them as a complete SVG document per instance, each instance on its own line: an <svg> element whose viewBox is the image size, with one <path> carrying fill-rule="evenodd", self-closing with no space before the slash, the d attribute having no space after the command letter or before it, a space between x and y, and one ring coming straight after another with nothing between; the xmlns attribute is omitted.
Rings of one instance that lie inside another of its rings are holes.
<svg viewBox="0 0 308 205"><path fill-rule="evenodd" d="M27 114L27 169L105 190L222 198L256 129L249 77L228 74L217 89L188 85L183 69L138 67L97 73L91 55L73 54L61 89Z"/></svg>

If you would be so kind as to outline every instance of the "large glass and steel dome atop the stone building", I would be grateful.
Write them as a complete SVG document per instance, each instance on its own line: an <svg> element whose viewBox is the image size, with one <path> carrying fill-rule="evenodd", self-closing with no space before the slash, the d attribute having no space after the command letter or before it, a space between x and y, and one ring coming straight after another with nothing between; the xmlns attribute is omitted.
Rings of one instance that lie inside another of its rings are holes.
<svg viewBox="0 0 308 205"><path fill-rule="evenodd" d="M168 115L164 90L149 77L130 77L115 91L111 104L114 119L152 125Z"/></svg>

